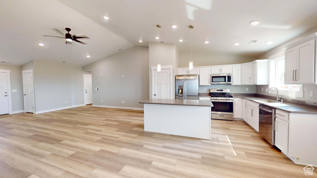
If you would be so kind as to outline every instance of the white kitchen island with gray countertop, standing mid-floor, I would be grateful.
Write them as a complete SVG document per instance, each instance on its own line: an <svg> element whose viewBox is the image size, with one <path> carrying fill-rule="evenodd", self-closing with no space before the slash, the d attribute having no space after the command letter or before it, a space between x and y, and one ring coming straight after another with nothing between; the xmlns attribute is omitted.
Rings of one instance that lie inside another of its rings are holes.
<svg viewBox="0 0 317 178"><path fill-rule="evenodd" d="M144 130L186 137L210 139L210 100L147 99L144 104Z"/></svg>

